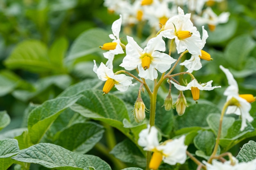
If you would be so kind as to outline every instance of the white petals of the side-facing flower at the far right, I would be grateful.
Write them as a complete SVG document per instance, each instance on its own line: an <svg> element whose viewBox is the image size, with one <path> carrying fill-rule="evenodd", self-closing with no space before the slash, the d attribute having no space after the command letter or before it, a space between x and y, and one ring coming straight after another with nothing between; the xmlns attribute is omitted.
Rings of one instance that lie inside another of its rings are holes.
<svg viewBox="0 0 256 170"><path fill-rule="evenodd" d="M233 75L230 73L229 69L224 68L223 66L220 66L220 69L227 76L227 80L229 83L229 86L224 92L224 95L227 96L227 101L229 101L232 98L235 98L239 102L237 106L228 106L226 113L227 114L234 113L236 115L241 115L242 125L240 130L242 131L247 126L246 120L249 122L253 121L253 117L249 113L252 106L249 102L247 102L246 99L239 96L238 84L234 79Z"/></svg>

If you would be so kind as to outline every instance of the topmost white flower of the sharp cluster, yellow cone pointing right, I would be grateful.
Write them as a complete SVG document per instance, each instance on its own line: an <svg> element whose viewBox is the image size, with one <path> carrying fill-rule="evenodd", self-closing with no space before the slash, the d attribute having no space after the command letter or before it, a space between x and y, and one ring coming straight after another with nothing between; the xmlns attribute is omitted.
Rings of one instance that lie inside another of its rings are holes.
<svg viewBox="0 0 256 170"><path fill-rule="evenodd" d="M168 39L175 38L178 53L187 49L191 54L201 55L202 40L199 31L190 20L191 14L184 15L184 11L180 7L178 7L178 13L168 19L160 35Z"/></svg>

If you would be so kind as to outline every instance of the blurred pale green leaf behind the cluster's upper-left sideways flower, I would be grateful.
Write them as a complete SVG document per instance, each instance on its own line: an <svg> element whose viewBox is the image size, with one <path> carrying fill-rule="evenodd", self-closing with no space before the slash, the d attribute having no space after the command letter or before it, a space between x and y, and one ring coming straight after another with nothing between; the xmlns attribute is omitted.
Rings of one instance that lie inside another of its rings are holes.
<svg viewBox="0 0 256 170"><path fill-rule="evenodd" d="M83 32L70 47L70 53L65 58L66 62L75 60L80 57L92 53L99 53L102 55L104 52L99 48L106 42L111 42L112 40L108 37L108 33L103 29L90 29ZM102 55L103 56L103 55Z"/></svg>

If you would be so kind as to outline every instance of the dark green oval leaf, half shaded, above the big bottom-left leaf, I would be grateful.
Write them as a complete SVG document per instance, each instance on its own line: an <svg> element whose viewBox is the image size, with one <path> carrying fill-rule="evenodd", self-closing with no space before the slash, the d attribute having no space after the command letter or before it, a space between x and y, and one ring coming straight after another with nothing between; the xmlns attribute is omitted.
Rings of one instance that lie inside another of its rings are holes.
<svg viewBox="0 0 256 170"><path fill-rule="evenodd" d="M74 124L62 130L54 143L73 152L85 154L98 143L103 133L103 126L93 122Z"/></svg>

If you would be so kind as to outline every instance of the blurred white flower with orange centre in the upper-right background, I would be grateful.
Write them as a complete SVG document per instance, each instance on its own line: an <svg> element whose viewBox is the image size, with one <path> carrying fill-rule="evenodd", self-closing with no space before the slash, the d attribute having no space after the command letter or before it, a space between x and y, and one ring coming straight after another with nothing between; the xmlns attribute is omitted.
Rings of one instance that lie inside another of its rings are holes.
<svg viewBox="0 0 256 170"><path fill-rule="evenodd" d="M207 7L202 13L202 16L194 15L193 20L198 26L208 24L211 31L215 30L216 25L226 23L229 20L229 12L222 12L219 16L213 12L211 7Z"/></svg>

